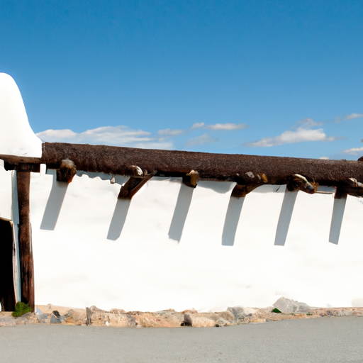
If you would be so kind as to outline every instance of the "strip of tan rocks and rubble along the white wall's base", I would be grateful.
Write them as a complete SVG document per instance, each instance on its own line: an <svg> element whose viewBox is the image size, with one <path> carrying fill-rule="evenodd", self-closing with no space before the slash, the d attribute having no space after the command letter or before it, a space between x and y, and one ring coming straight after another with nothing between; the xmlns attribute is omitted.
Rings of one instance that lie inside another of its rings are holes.
<svg viewBox="0 0 363 363"><path fill-rule="evenodd" d="M277 310L276 310L277 309ZM43 311L45 311L43 313ZM281 311L281 313L274 312ZM35 313L13 318L9 312L0 312L0 326L24 324L92 325L122 328L177 328L181 326L221 327L269 321L318 318L322 316L363 316L363 308L311 308L306 303L279 298L268 308L233 306L216 313L198 313L196 310L177 312L173 309L150 312L112 309L104 311L96 306L85 309L67 309L59 306L38 306Z"/></svg>

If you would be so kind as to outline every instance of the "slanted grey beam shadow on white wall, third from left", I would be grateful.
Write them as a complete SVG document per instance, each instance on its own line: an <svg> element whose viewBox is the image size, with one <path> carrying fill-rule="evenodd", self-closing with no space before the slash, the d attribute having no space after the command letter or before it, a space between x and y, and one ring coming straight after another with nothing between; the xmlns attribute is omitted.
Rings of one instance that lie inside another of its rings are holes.
<svg viewBox="0 0 363 363"><path fill-rule="evenodd" d="M180 242L181 235L183 234L186 216L188 216L191 198L193 196L194 188L181 184L177 199L177 205L174 209L172 223L169 228L169 238Z"/></svg>

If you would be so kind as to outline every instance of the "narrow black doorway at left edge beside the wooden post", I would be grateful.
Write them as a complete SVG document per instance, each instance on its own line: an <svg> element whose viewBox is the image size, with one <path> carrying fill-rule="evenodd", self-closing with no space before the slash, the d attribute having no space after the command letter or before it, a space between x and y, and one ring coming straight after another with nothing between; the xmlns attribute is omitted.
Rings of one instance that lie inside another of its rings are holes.
<svg viewBox="0 0 363 363"><path fill-rule="evenodd" d="M0 301L2 311L15 308L13 280L13 224L0 218Z"/></svg>

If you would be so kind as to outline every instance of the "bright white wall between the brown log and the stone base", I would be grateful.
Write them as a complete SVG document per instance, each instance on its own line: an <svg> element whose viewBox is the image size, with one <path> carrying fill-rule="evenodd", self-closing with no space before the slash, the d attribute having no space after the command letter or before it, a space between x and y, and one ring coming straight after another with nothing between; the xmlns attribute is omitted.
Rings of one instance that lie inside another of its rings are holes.
<svg viewBox="0 0 363 363"><path fill-rule="evenodd" d="M215 311L285 296L311 306L363 305L361 199L348 196L334 245L333 196L298 192L286 245L276 246L284 186L262 186L247 195L230 246L222 235L232 183L201 181L193 190L155 177L129 203L117 200L120 184L111 176L92 177L66 186L32 174L38 304ZM233 203L238 211L242 199ZM183 216L178 242L169 235L178 239Z"/></svg>

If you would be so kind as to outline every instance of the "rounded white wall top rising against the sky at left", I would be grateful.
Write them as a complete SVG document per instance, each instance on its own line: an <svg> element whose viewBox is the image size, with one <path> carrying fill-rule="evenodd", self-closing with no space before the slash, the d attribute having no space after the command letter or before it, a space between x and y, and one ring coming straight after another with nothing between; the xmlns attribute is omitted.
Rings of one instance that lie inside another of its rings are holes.
<svg viewBox="0 0 363 363"><path fill-rule="evenodd" d="M42 156L42 141L30 128L16 82L6 73L0 73L0 155Z"/></svg>

